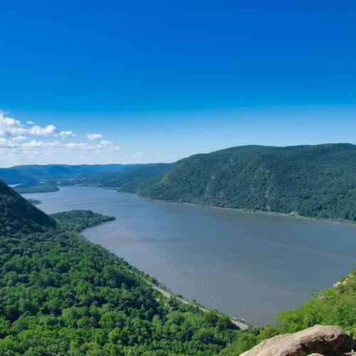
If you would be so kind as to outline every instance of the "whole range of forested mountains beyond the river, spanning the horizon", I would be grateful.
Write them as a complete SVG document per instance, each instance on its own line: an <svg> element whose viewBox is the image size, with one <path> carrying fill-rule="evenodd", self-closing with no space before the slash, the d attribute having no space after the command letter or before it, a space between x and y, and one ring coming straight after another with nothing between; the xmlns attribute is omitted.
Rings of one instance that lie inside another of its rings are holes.
<svg viewBox="0 0 356 356"><path fill-rule="evenodd" d="M174 164L16 166L0 169L0 178L54 179L164 201L356 221L356 145L347 143L231 147ZM44 188L30 183L16 189Z"/></svg>

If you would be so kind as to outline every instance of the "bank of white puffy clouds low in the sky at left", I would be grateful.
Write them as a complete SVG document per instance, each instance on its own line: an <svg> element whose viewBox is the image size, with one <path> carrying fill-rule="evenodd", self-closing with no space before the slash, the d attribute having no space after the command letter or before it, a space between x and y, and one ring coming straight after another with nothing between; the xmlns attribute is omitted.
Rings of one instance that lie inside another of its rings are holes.
<svg viewBox="0 0 356 356"><path fill-rule="evenodd" d="M33 163L117 162L122 154L120 146L103 140L99 133L87 134L81 139L76 137L78 135L73 131L58 130L53 124L41 127L27 121L23 125L20 120L7 117L0 111L0 167Z"/></svg>

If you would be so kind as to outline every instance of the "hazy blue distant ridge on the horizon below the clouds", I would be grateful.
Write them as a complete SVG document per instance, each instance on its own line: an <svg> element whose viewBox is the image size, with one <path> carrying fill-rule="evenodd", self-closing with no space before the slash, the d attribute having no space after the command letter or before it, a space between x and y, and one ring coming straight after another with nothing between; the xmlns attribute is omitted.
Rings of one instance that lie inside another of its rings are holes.
<svg viewBox="0 0 356 356"><path fill-rule="evenodd" d="M85 173L119 172L141 164L46 164L21 165L0 168L0 179L7 184L18 184L31 180L72 178Z"/></svg>

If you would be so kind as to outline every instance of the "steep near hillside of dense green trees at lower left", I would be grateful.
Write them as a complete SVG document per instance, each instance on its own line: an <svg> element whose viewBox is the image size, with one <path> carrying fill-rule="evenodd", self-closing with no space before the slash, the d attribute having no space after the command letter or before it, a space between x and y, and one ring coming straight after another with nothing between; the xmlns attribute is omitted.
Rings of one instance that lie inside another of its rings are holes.
<svg viewBox="0 0 356 356"><path fill-rule="evenodd" d="M244 334L164 298L3 182L0 193L0 355L215 355Z"/></svg>

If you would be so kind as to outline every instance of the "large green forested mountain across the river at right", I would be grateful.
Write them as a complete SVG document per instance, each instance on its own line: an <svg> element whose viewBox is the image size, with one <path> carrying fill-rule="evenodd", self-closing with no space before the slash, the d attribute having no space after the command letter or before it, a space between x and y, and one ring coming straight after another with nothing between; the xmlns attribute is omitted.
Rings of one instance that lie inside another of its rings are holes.
<svg viewBox="0 0 356 356"><path fill-rule="evenodd" d="M356 145L232 147L181 159L122 190L166 201L356 221Z"/></svg>

